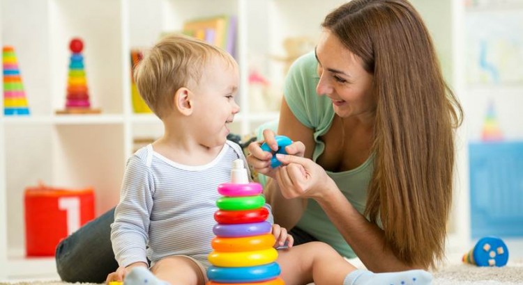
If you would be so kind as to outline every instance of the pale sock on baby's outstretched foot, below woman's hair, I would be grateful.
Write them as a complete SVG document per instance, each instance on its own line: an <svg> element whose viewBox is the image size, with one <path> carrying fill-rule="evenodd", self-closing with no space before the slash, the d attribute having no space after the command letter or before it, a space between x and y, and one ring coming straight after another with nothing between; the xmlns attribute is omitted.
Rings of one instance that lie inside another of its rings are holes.
<svg viewBox="0 0 523 285"><path fill-rule="evenodd" d="M425 270L373 273L357 269L343 280L343 285L425 285L431 284L432 274Z"/></svg>

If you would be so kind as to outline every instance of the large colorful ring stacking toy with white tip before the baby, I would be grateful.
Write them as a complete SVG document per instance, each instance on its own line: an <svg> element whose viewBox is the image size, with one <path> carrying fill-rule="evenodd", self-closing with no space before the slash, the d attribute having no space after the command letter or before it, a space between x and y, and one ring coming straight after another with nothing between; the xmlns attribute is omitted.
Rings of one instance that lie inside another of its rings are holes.
<svg viewBox="0 0 523 285"><path fill-rule="evenodd" d="M213 252L207 270L209 283L218 284L285 284L280 276L280 266L275 263L278 252L273 245L271 223L267 222L268 210L261 195L261 184L249 183L243 161L234 161L231 183L220 184L218 211L213 227L216 235L211 241Z"/></svg>

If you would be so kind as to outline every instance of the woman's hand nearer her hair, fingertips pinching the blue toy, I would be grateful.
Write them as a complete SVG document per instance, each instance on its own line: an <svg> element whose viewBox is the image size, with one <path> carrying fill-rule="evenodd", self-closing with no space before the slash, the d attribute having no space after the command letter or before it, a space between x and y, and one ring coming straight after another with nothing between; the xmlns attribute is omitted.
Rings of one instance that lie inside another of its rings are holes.
<svg viewBox="0 0 523 285"><path fill-rule="evenodd" d="M276 172L276 181L283 197L321 199L328 191L338 189L327 172L309 158L276 154L282 166Z"/></svg>

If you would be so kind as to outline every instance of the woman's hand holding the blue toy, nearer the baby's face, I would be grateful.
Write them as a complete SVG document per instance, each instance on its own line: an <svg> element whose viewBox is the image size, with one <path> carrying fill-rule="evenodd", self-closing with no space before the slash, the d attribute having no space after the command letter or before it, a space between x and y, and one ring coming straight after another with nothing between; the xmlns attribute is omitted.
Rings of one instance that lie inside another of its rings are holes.
<svg viewBox="0 0 523 285"><path fill-rule="evenodd" d="M247 161L258 173L275 178L278 168L271 168L271 158L273 158L273 154L271 154L271 152L265 152L261 149L261 145L266 142L273 152L276 152L278 151L278 143L275 140L275 133L270 129L265 129L263 134L263 141L250 143ZM285 152L294 156L303 157L303 154L305 154L305 145L303 145L303 142L292 142L291 145L285 147Z"/></svg>

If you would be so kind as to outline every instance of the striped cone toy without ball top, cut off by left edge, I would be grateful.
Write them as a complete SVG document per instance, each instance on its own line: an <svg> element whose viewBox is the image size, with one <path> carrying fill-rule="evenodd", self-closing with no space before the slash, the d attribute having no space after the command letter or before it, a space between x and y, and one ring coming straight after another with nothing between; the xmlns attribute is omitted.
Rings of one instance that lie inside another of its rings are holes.
<svg viewBox="0 0 523 285"><path fill-rule="evenodd" d="M3 115L29 115L15 49L3 47Z"/></svg>

